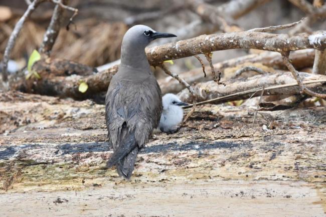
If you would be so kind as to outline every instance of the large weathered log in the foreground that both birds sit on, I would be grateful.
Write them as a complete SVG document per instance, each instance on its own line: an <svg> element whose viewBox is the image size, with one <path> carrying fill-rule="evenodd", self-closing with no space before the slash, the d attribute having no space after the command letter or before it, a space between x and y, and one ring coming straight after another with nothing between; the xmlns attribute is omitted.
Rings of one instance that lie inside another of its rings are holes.
<svg viewBox="0 0 326 217"><path fill-rule="evenodd" d="M326 108L259 111L251 127L253 108L200 106L125 181L104 169L103 105L0 93L0 214L324 216Z"/></svg>

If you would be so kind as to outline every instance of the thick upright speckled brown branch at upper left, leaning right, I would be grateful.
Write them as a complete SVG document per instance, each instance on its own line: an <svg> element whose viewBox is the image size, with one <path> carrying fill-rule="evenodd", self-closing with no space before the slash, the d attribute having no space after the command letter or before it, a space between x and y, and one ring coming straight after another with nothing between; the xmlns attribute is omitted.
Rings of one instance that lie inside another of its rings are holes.
<svg viewBox="0 0 326 217"><path fill-rule="evenodd" d="M64 11L64 8L61 6L61 4L67 4L67 2L68 0L58 0L58 3L54 8L50 24L43 36L43 42L39 48L39 52L45 54L46 56L50 55L52 47L61 28Z"/></svg>

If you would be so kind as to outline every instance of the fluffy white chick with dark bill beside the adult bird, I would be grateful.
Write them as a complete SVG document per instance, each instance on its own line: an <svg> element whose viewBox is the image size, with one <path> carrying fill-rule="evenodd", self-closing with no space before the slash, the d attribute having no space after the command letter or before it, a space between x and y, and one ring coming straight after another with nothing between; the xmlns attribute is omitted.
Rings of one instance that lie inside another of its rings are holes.
<svg viewBox="0 0 326 217"><path fill-rule="evenodd" d="M180 98L173 93L167 93L162 97L162 104L163 110L158 128L162 132L175 132L179 123L181 123L184 118L184 110L180 106L188 105L188 103L181 101Z"/></svg>

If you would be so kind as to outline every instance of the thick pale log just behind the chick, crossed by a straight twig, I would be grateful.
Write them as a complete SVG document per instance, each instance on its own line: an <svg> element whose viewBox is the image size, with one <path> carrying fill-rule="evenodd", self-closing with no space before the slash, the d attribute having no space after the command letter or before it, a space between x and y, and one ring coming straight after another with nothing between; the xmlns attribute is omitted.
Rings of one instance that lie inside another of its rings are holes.
<svg viewBox="0 0 326 217"><path fill-rule="evenodd" d="M313 81L313 80L325 80L326 76L320 74L310 74L305 72L300 72L300 76L304 79L304 81ZM259 74L252 77L245 77L243 79L232 79L225 81L226 85L218 85L214 81L208 81L204 83L198 83L193 88L195 90L195 94L197 96L198 101L204 101L208 99L213 99L229 94L235 94L232 98L226 98L225 100L219 100L219 103L229 101L229 100L239 100L239 99L247 99L251 95L258 96L261 94L261 91L256 91L255 94L249 92L247 94L237 95L236 93L255 89L258 87L267 88L268 86L280 85L280 84L289 84L296 83L295 78L291 75L291 72L277 72L272 74ZM322 83L313 83L306 84L307 87L313 89L313 91L325 93L326 86ZM255 91L253 91L255 92ZM299 87L296 86L288 86L284 88L272 88L263 92L263 95L291 95L299 92ZM192 95L188 91L188 89L182 90L179 94L180 99L183 101L191 102Z"/></svg>

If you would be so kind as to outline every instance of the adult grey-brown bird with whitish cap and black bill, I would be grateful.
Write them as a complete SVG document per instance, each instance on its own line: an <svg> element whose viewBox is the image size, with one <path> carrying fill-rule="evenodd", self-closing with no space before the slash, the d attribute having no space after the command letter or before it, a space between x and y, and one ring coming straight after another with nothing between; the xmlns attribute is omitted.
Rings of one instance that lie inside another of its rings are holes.
<svg viewBox="0 0 326 217"><path fill-rule="evenodd" d="M138 149L159 122L161 91L150 70L145 47L160 37L176 35L157 32L145 25L129 28L122 39L118 72L107 90L105 118L114 152L106 166L116 165L118 174L124 178L130 178Z"/></svg>

